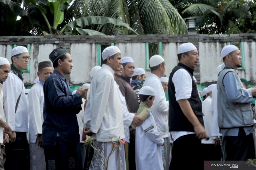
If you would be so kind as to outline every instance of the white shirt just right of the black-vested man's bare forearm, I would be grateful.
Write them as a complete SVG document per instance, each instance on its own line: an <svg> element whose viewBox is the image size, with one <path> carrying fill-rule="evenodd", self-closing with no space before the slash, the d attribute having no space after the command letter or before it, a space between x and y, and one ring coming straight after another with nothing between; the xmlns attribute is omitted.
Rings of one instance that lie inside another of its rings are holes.
<svg viewBox="0 0 256 170"><path fill-rule="evenodd" d="M213 116L211 114L211 105L212 105L212 98L208 96L202 103L202 111L203 111L203 119L204 119L204 129L206 131L207 139L202 140L202 144L214 144L212 138L212 122Z"/></svg>

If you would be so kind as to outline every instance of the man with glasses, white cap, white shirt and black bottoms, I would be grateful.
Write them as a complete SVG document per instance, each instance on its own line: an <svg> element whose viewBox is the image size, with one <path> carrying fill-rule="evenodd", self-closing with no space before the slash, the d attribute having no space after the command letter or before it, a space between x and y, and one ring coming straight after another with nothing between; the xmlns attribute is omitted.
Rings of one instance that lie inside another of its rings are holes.
<svg viewBox="0 0 256 170"><path fill-rule="evenodd" d="M22 78L22 70L28 67L28 49L17 46L11 52L11 72L3 83L4 113L12 129L10 142L6 145L5 169L29 169L28 101Z"/></svg>

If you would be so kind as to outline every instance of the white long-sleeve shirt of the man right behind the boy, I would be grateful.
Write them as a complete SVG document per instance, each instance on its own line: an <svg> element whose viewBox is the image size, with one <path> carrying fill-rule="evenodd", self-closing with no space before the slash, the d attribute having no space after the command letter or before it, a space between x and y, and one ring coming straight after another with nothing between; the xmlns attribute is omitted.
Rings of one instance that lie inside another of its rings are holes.
<svg viewBox="0 0 256 170"><path fill-rule="evenodd" d="M164 89L160 78L151 73L143 86L150 86L155 90L154 104L150 107L156 121L157 130L163 138L169 137L168 110L169 102L166 101Z"/></svg>

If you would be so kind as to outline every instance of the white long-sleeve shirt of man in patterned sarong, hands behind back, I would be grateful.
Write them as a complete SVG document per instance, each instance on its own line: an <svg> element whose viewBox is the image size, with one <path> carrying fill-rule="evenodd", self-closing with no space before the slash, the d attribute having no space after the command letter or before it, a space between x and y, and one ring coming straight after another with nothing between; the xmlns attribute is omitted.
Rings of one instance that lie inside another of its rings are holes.
<svg viewBox="0 0 256 170"><path fill-rule="evenodd" d="M109 136L123 139L123 111L116 90L114 70L106 64L92 78L90 102L91 130L96 133L96 140L110 142Z"/></svg>

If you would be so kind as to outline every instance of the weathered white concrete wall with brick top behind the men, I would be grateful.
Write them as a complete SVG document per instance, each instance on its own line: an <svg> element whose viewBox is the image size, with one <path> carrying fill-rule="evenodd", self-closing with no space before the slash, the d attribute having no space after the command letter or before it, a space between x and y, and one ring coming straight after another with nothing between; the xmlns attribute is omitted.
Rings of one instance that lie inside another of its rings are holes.
<svg viewBox="0 0 256 170"><path fill-rule="evenodd" d="M71 85L81 85L91 81L89 72L92 67L100 64L101 45L116 45L122 56L131 56L135 67L147 69L147 43L159 44L166 62L165 75L177 65L177 49L180 44L192 42L198 48L200 65L195 69L195 77L202 85L208 85L217 80L216 68L222 63L221 49L227 45L239 44L244 57L244 69L239 70L239 76L246 78L251 84L256 82L256 34L243 33L231 35L204 35L189 33L185 35L120 35L120 36L8 36L0 37L0 56L11 62L13 45L27 46L30 44L29 72L24 72L24 83L31 85L37 77L39 62L49 60L49 54L54 48L65 46L73 58L73 69L67 76ZM242 45L241 45L242 42ZM146 71L147 76L150 71Z"/></svg>

